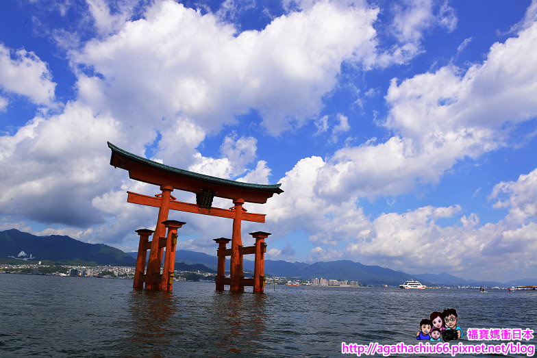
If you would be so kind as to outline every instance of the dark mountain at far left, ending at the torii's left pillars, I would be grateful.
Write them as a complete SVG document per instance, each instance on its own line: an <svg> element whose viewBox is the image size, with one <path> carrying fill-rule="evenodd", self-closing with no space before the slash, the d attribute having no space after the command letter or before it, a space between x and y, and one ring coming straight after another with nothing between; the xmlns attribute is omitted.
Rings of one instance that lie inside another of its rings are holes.
<svg viewBox="0 0 537 358"><path fill-rule="evenodd" d="M92 261L97 264L136 264L123 251L105 244L88 244L68 236L36 236L16 229L0 231L0 258L22 260Z"/></svg>

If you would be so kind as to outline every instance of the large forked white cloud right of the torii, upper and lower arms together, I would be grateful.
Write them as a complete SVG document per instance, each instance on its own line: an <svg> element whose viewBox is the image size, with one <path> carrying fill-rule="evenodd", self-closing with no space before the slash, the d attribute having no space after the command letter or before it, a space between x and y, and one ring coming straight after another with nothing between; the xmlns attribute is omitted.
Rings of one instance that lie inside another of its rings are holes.
<svg viewBox="0 0 537 358"><path fill-rule="evenodd" d="M279 181L285 200L275 197L267 204L274 220L269 225L282 231L295 222L305 228L317 245L310 259L351 258L410 272L450 270L462 277L471 272L507 280L508 257L523 263L517 274L531 276L536 170L495 186L490 199L497 200L495 207L509 209L495 224L479 226L479 216L460 216L458 205L371 219L361 212L359 199L436 183L458 160L509 145L510 131L537 116L535 40L534 24L494 44L487 59L467 71L449 65L400 83L392 80L383 125L395 136L340 149L327 159L301 159ZM328 131L328 117L317 127ZM441 225L445 218L455 224Z"/></svg>

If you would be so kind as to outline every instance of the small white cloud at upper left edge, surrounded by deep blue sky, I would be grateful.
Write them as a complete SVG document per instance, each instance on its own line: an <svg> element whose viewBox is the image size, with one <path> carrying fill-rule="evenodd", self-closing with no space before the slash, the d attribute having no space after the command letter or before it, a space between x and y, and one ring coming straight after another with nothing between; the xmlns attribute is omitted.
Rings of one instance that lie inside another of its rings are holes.
<svg viewBox="0 0 537 358"><path fill-rule="evenodd" d="M47 64L35 53L14 51L0 43L0 89L21 94L38 105L52 105L55 86Z"/></svg>

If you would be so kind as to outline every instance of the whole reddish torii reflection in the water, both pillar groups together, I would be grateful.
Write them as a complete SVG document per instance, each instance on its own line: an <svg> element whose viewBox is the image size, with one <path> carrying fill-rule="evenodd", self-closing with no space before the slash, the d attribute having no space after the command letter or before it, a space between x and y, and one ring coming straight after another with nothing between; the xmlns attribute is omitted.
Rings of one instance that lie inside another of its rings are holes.
<svg viewBox="0 0 537 358"><path fill-rule="evenodd" d="M174 292L132 290L121 355L263 355L266 302L264 294L216 292L201 283Z"/></svg>

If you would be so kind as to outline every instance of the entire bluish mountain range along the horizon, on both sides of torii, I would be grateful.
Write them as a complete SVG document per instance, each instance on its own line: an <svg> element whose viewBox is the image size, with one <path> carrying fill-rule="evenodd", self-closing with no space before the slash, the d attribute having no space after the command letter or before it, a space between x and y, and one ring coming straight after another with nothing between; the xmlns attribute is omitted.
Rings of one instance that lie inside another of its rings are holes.
<svg viewBox="0 0 537 358"><path fill-rule="evenodd" d="M180 242L179 242L180 247ZM215 248L216 253L216 248ZM0 231L0 258L18 257L28 261L92 261L97 264L136 264L137 253L124 253L118 248L105 244L88 244L63 235L36 236L16 229ZM17 260L18 261L18 260ZM177 250L175 256L177 270L216 270L217 257L196 251ZM229 261L226 267L229 269ZM253 261L245 259L245 270L253 272ZM537 285L537 279L516 279L507 283L495 281L466 280L442 272L441 274L408 274L381 266L367 266L351 260L321 261L313 264L265 260L266 274L297 279L338 279L360 281L369 285L400 285L408 279L418 279L431 285Z"/></svg>

